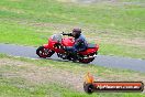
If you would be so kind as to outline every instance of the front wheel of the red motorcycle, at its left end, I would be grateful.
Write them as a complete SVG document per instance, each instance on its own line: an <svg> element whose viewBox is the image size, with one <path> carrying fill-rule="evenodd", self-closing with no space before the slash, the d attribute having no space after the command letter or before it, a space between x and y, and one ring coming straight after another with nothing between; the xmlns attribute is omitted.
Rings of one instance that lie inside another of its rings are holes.
<svg viewBox="0 0 145 97"><path fill-rule="evenodd" d="M48 50L48 48L45 48L44 46L40 46L40 47L36 50L36 54L37 54L40 57L43 57L43 58L51 57L54 53L55 53L54 51Z"/></svg>

